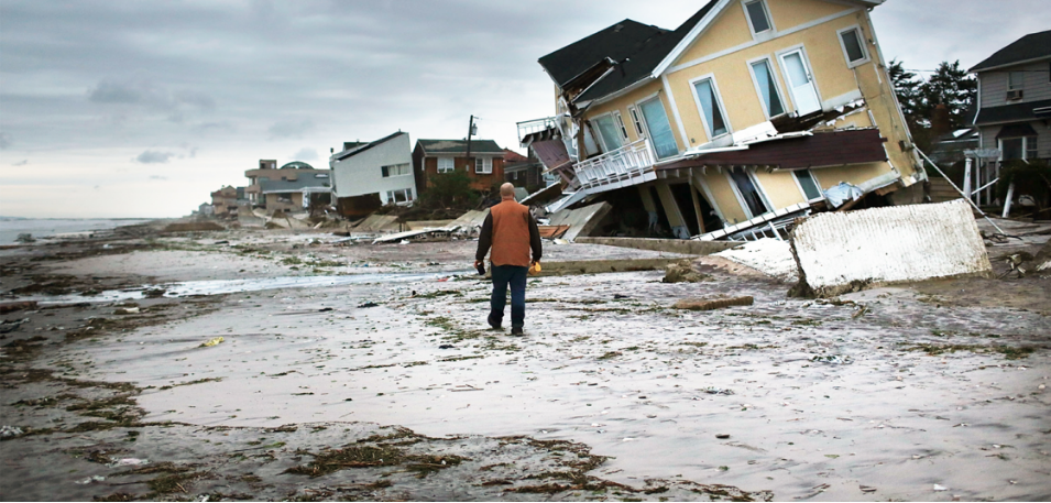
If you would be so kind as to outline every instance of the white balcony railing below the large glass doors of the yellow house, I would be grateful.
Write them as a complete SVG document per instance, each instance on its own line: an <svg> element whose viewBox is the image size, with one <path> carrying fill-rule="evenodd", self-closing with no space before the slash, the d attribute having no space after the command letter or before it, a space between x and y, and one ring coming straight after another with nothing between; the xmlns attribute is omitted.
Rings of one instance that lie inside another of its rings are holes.
<svg viewBox="0 0 1051 503"><path fill-rule="evenodd" d="M649 140L643 139L573 165L580 188L588 194L613 190L657 179Z"/></svg>

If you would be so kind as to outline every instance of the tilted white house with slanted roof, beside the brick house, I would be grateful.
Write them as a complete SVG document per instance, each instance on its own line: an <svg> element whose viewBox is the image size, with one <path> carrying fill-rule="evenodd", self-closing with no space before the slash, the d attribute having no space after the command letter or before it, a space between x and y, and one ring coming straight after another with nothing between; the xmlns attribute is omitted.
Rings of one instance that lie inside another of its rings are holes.
<svg viewBox="0 0 1051 503"><path fill-rule="evenodd" d="M371 143L344 143L341 152L329 157L329 166L336 206L346 217L416 200L408 133L398 131Z"/></svg>

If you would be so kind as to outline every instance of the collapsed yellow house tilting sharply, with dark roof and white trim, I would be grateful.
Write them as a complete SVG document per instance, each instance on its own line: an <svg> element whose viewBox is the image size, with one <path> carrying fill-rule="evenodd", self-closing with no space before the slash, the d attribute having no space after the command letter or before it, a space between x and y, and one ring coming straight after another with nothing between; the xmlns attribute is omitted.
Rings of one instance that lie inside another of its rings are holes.
<svg viewBox="0 0 1051 503"><path fill-rule="evenodd" d="M557 116L518 132L563 181L548 210L616 199L711 240L921 201L868 15L883 1L712 0L674 31L624 20L541 57Z"/></svg>

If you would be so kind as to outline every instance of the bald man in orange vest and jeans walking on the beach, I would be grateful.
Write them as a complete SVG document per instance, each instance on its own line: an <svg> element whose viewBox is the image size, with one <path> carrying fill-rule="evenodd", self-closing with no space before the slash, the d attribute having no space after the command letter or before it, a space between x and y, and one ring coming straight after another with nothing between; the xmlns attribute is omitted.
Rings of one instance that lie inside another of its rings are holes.
<svg viewBox="0 0 1051 503"><path fill-rule="evenodd" d="M529 208L515 201L515 186L500 186L500 204L493 206L482 232L478 237L474 266L478 267L493 249L490 256L493 271L493 296L490 299L489 325L500 328L507 303L507 285L511 285L511 335L521 336L525 326L525 283L529 266L540 261L540 231ZM529 251L533 260L529 260Z"/></svg>

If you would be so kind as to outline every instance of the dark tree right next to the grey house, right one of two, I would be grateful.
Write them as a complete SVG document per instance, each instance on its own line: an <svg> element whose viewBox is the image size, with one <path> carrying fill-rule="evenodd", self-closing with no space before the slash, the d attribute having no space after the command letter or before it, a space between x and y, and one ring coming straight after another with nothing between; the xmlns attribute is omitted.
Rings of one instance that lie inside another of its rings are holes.
<svg viewBox="0 0 1051 503"><path fill-rule="evenodd" d="M953 64L942 62L934 75L920 85L920 105L916 110L918 122L930 125L934 107L945 103L949 107L949 123L954 129L965 127L971 122L971 118L966 117L967 109L975 102L977 90L978 81L960 67L959 59Z"/></svg>

